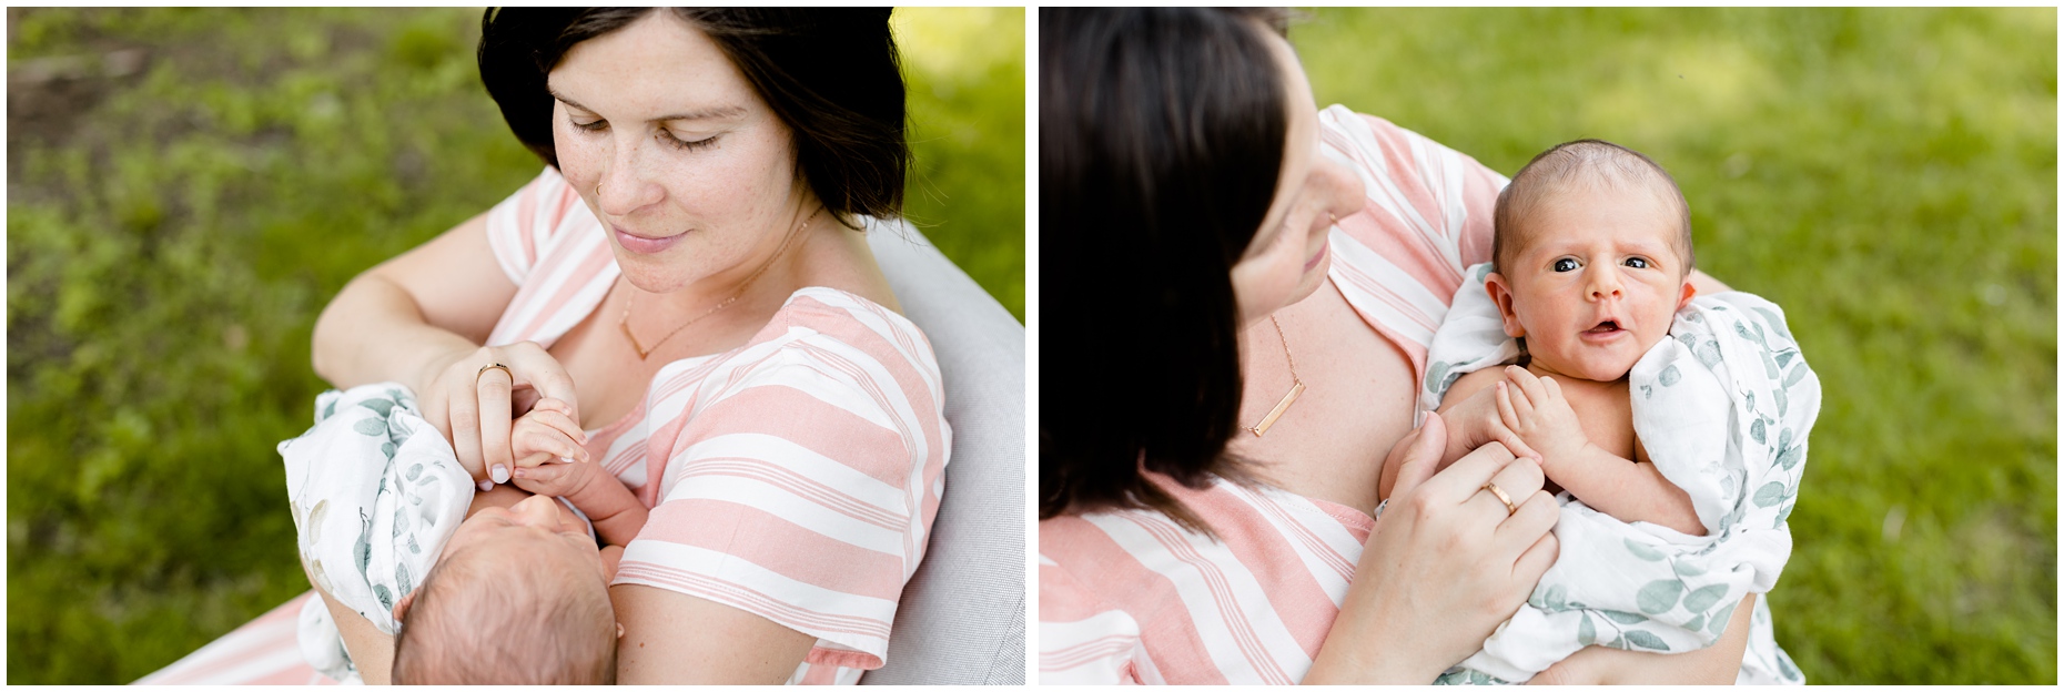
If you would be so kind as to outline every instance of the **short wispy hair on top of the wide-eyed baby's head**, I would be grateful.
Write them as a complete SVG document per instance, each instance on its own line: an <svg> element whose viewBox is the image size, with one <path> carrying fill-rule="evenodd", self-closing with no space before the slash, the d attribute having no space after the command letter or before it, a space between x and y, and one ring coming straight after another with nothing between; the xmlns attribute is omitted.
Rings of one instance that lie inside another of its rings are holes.
<svg viewBox="0 0 2064 692"><path fill-rule="evenodd" d="M1672 205L1678 213L1672 250L1684 260L1682 273L1690 275L1690 205L1684 200L1684 190L1678 190L1676 178L1670 178L1670 171L1655 159L1600 138L1579 138L1542 151L1519 174L1513 174L1513 182L1505 190L1498 190L1498 207L1490 217L1490 266L1494 271L1503 273L1511 260L1509 254L1525 248L1523 221L1554 192L1571 186L1637 188Z"/></svg>

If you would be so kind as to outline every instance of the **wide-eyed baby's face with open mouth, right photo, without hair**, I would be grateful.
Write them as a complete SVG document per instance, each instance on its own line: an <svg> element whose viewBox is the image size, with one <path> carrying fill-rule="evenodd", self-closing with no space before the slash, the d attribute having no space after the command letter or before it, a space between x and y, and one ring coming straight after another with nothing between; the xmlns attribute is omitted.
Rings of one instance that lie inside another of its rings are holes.
<svg viewBox="0 0 2064 692"><path fill-rule="evenodd" d="M1676 209L1645 192L1560 192L1525 221L1511 266L1488 279L1505 335L1525 337L1542 370L1626 376L1690 302L1676 233Z"/></svg>

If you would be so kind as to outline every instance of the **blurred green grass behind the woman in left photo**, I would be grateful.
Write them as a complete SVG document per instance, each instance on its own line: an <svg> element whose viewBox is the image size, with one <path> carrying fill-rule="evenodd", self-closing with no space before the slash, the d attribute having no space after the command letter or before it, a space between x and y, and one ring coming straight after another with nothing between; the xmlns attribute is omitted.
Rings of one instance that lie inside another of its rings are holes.
<svg viewBox="0 0 2064 692"><path fill-rule="evenodd" d="M479 10L8 10L8 684L122 684L308 591L272 446L316 312L541 163ZM1024 320L1024 10L894 19L908 217Z"/></svg>

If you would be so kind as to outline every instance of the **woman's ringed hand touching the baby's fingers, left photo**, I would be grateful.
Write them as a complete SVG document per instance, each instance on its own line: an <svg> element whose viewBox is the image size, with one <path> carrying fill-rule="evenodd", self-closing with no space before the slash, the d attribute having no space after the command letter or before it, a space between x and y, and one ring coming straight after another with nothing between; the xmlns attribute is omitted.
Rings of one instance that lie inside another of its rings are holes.
<svg viewBox="0 0 2064 692"><path fill-rule="evenodd" d="M489 364L508 370L487 368ZM566 403L561 415L580 421L574 378L535 341L448 353L431 370L436 374L417 392L417 403L423 417L452 440L458 463L475 481L508 483L516 469L514 419L528 413L541 397Z"/></svg>

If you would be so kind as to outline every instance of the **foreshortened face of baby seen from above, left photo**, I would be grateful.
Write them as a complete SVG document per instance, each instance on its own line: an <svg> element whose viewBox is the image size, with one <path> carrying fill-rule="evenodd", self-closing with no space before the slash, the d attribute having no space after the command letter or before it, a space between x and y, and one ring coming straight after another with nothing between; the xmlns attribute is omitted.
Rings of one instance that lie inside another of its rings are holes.
<svg viewBox="0 0 2064 692"><path fill-rule="evenodd" d="M559 500L530 496L508 508L485 506L466 516L444 543L444 560L469 545L487 547L491 554L510 556L510 566L559 568L586 578L594 574L603 587L609 585L609 570L603 568L601 552L588 529L559 510Z"/></svg>

